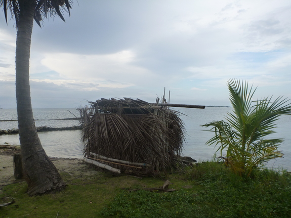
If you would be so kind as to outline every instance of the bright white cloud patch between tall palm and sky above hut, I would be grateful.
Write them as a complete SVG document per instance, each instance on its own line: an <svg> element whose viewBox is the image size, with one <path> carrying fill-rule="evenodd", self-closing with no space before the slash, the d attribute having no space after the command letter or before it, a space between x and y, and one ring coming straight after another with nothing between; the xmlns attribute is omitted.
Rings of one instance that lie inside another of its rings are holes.
<svg viewBox="0 0 291 218"><path fill-rule="evenodd" d="M134 52L120 51L107 55L46 54L41 63L70 82L76 80L98 83L100 87L122 88L155 77L149 70L136 66L134 61Z"/></svg>

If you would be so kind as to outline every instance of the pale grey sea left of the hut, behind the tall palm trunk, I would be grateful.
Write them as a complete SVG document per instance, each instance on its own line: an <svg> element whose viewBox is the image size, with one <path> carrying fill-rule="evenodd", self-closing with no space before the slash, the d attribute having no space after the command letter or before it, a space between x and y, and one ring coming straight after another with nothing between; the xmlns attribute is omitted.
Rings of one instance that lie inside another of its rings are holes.
<svg viewBox="0 0 291 218"><path fill-rule="evenodd" d="M74 108L33 109L36 127L67 127L79 125L78 120L50 120L79 117ZM16 109L0 109L0 120L16 120ZM0 121L0 129L18 128L17 121ZM81 142L81 130L63 130L53 132L39 132L38 137L46 153L50 157L82 158L84 145ZM13 145L19 143L18 134L0 135L0 145L5 142Z"/></svg>

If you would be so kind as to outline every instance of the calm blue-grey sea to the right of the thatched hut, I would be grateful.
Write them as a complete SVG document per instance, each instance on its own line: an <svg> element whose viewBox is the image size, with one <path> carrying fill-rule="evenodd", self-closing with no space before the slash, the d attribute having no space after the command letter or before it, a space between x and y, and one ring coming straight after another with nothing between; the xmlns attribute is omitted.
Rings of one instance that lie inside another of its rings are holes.
<svg viewBox="0 0 291 218"><path fill-rule="evenodd" d="M205 109L181 108L179 112L185 114L181 118L185 122L188 133L183 154L197 161L212 160L218 147L214 145L207 146L205 143L214 137L214 133L205 131L210 130L211 127L206 128L201 125L212 121L226 121L227 113L232 112L232 110L231 107L206 107ZM291 170L291 115L280 116L276 123L276 133L272 134L270 138L284 139L279 147L279 150L284 153L284 158L276 158L268 161L266 165L271 168L283 167L284 169ZM221 155L220 151L216 154L217 157Z"/></svg>

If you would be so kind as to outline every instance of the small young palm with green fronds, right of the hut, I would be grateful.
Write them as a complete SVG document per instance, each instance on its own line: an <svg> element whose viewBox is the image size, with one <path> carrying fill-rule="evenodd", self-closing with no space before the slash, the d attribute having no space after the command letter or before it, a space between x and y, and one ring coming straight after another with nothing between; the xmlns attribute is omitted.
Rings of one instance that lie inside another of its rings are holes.
<svg viewBox="0 0 291 218"><path fill-rule="evenodd" d="M269 139L275 133L275 121L283 114L291 114L289 100L264 98L253 101L256 89L248 89L248 83L230 79L228 81L232 113L228 113L227 122L213 121L202 126L213 126L209 132L215 136L206 142L218 146L221 158L225 164L239 175L250 176L252 170L263 162L277 157L283 157L278 151L283 139ZM226 156L222 157L223 150Z"/></svg>

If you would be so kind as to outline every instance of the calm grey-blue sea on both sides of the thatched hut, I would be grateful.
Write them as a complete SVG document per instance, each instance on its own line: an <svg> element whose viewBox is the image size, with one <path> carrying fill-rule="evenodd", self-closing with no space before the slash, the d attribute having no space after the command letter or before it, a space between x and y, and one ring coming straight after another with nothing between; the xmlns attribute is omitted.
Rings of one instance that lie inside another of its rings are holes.
<svg viewBox="0 0 291 218"><path fill-rule="evenodd" d="M172 108L181 113L181 119L185 122L187 131L184 143L184 156L190 156L197 161L212 160L216 149L207 146L205 142L213 137L213 133L207 132L210 128L201 125L214 120L225 119L231 107L206 107L205 109ZM50 127L66 127L79 125L77 120L50 120L79 117L76 109L33 109L35 125ZM0 109L0 120L16 120L16 109ZM0 121L0 129L18 128L17 121ZM280 149L284 158L269 161L266 165L270 168L284 168L291 171L291 116L283 115L277 120L276 134L271 138L283 138ZM63 130L53 132L39 132L41 144L48 156L65 158L82 158L84 145L81 142L81 130ZM19 144L17 135L0 135L0 144ZM217 154L220 156L220 153Z"/></svg>

